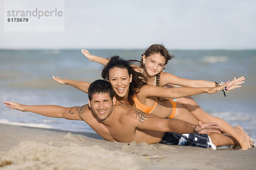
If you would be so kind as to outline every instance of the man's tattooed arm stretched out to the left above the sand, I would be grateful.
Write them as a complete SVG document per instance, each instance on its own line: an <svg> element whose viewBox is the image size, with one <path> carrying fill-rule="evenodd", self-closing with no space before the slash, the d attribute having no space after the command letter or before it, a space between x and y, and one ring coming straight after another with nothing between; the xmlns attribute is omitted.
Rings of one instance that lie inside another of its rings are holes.
<svg viewBox="0 0 256 170"><path fill-rule="evenodd" d="M88 111L88 105L65 108L56 105L22 105L15 102L3 102L6 107L18 111L29 111L43 116L58 117L70 120L82 120L79 114Z"/></svg>

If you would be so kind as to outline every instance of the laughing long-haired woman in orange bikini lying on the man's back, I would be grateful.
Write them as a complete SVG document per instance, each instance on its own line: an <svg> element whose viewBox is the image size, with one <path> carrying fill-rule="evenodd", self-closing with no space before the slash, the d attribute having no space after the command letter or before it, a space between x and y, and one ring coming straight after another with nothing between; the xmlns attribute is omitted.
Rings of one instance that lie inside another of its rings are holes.
<svg viewBox="0 0 256 170"><path fill-rule="evenodd" d="M164 102L158 102L155 96L164 98L176 98L201 93L212 94L224 87L167 89L146 85L146 82L143 81L143 74L134 71L134 69L129 64L131 63L119 59L119 57L112 57L110 62L108 62L102 71L102 77L108 79L108 81L111 82L113 89L116 92L116 103L133 105L146 113L156 114L157 116L161 117L170 116L170 113L172 113L172 104L168 100ZM58 77L53 78L61 84L72 85L84 92L87 92L87 88L90 85L90 83L87 82L64 80L59 79ZM229 85L229 82L226 85ZM233 88L236 88L236 83L234 80L230 82L229 90L232 90ZM174 118L179 119L178 115L179 114L176 113ZM191 115L191 117L193 116ZM198 120L195 119L195 117L191 119L191 117L185 116L182 120L198 124ZM230 138L226 138L226 144L230 144L230 142ZM233 142L232 144L235 143Z"/></svg>

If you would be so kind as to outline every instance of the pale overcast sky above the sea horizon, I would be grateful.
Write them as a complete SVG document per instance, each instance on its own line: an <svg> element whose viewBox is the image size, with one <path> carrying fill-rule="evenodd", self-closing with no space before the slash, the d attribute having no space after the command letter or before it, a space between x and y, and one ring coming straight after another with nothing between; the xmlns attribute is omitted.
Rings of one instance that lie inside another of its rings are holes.
<svg viewBox="0 0 256 170"><path fill-rule="evenodd" d="M65 0L65 31L5 32L0 48L256 49L256 0Z"/></svg>

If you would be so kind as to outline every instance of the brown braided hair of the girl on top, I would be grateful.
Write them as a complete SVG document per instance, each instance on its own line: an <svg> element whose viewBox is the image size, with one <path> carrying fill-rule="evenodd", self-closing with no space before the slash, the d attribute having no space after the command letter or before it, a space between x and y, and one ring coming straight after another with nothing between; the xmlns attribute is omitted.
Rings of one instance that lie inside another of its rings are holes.
<svg viewBox="0 0 256 170"><path fill-rule="evenodd" d="M145 55L145 57L148 57L152 54L160 54L161 56L163 56L166 59L165 65L169 60L171 60L174 57L174 55L169 54L169 51L162 44L150 45L150 47L148 47L148 49L145 51L143 55ZM140 66L144 67L143 57L141 57ZM158 73L156 76L157 76L156 85L160 86L160 73Z"/></svg>

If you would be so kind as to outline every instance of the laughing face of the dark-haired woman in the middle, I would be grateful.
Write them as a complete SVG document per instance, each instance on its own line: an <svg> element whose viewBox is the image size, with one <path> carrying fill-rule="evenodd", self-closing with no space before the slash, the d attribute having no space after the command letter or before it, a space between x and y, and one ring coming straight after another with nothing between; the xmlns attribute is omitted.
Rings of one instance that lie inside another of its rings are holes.
<svg viewBox="0 0 256 170"><path fill-rule="evenodd" d="M108 72L108 81L111 83L117 96L128 95L132 74L129 75L126 68L114 67Z"/></svg>

